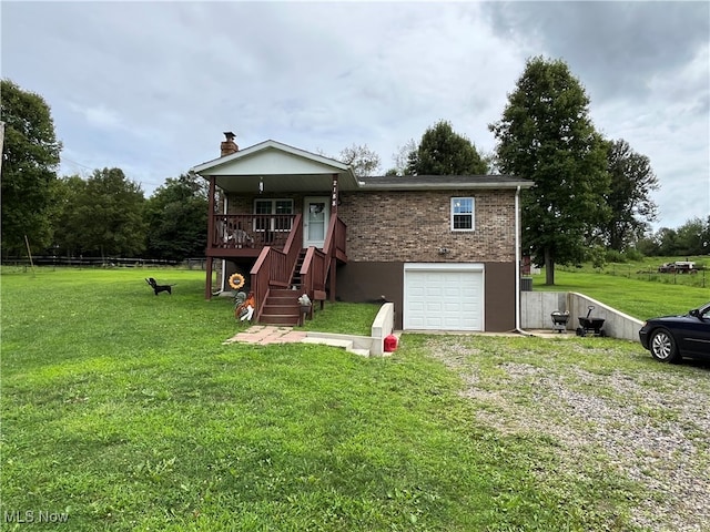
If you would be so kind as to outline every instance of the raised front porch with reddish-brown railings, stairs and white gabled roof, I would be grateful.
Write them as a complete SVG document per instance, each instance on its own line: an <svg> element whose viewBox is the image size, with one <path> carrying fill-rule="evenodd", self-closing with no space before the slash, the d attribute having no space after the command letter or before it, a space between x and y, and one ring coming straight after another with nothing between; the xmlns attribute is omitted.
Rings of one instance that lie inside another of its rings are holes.
<svg viewBox="0 0 710 532"><path fill-rule="evenodd" d="M295 325L298 296L335 300L336 265L347 262L338 194L357 188L357 180L338 161L274 141L240 151L234 135L225 136L220 158L192 168L209 182L205 298L213 262L232 260L244 274L251 268L253 320Z"/></svg>

